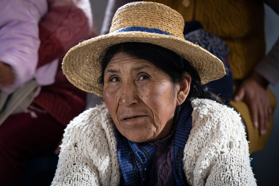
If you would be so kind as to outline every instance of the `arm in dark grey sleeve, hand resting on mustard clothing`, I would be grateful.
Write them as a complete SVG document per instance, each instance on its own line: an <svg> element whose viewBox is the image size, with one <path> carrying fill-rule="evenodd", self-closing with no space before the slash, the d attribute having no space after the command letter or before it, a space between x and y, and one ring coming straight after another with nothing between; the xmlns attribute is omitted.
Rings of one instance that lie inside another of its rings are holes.
<svg viewBox="0 0 279 186"><path fill-rule="evenodd" d="M279 14L278 0L265 0L277 14ZM267 87L275 85L279 80L279 38L271 51L256 65L254 71L240 85L235 101L244 100L249 107L252 121L259 133L267 131L271 116L271 106Z"/></svg>

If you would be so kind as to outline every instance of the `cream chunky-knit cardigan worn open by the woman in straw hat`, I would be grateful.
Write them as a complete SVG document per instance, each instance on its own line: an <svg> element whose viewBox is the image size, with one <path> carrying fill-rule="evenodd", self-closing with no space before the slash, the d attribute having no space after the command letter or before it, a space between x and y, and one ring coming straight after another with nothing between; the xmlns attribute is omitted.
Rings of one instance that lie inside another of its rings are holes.
<svg viewBox="0 0 279 186"><path fill-rule="evenodd" d="M192 100L192 129L184 148L189 185L256 185L239 115L212 100ZM52 186L119 185L114 125L106 106L84 111L65 129Z"/></svg>

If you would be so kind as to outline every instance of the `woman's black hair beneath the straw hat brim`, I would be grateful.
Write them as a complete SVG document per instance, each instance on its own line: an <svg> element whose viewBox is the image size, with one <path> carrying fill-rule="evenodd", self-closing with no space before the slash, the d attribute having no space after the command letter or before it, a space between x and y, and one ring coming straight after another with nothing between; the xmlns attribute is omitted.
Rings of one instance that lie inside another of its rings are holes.
<svg viewBox="0 0 279 186"><path fill-rule="evenodd" d="M169 74L174 86L176 84L180 84L180 82L184 79L184 72L188 72L192 81L190 84L189 94L184 103L189 102L189 100L193 98L205 98L215 100L220 103L219 98L213 94L207 86L201 84L201 79L197 71L193 69L187 60L181 58L173 51L150 43L125 42L110 47L104 54L104 58L101 61L102 74L98 81L100 84L104 85L104 70L111 58L121 50L132 57L148 60L158 68L162 69L164 72ZM183 61L183 68L181 59Z"/></svg>

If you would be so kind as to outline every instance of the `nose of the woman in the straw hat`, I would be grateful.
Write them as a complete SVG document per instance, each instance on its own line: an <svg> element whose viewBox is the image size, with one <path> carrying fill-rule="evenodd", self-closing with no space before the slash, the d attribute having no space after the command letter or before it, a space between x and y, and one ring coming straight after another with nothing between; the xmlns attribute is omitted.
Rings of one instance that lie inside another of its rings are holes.
<svg viewBox="0 0 279 186"><path fill-rule="evenodd" d="M123 83L120 96L119 104L122 106L131 107L139 103L138 92L133 83Z"/></svg>

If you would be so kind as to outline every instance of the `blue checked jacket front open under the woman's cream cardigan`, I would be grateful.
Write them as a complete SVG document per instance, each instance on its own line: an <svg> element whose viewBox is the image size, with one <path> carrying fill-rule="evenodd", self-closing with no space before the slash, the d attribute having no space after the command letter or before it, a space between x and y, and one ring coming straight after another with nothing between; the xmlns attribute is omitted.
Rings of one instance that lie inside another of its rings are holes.
<svg viewBox="0 0 279 186"><path fill-rule="evenodd" d="M183 149L192 126L193 108L185 106L180 113L174 137L173 174L176 185L184 183L182 169ZM155 148L146 143L136 143L126 139L118 130L114 130L117 140L117 156L126 186L151 185L154 170Z"/></svg>

